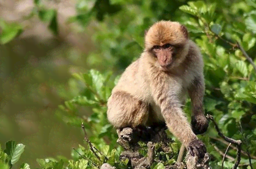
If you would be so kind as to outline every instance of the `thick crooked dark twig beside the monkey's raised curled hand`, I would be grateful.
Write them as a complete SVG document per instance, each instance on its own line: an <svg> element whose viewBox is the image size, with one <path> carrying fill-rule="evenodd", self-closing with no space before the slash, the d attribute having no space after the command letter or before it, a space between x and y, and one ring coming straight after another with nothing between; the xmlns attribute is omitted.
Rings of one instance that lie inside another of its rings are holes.
<svg viewBox="0 0 256 169"><path fill-rule="evenodd" d="M239 163L240 163L240 160L241 160L241 144L242 144L242 141L241 140L234 140L233 138L228 138L227 136L223 135L221 130L218 128L217 123L213 119L212 115L207 114L206 118L213 122L213 124L215 125L215 129L217 130L219 136L224 138L224 140L226 140L227 142L236 145L236 147L237 147L236 163L233 166L233 169L236 169L238 167Z"/></svg>

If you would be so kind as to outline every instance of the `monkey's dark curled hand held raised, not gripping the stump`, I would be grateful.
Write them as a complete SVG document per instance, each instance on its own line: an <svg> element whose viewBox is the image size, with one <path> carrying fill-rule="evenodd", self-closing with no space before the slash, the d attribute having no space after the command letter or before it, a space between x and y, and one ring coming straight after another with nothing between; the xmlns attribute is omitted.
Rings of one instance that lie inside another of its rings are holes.
<svg viewBox="0 0 256 169"><path fill-rule="evenodd" d="M204 115L192 115L191 117L191 126L193 132L198 135L198 134L203 134L206 132L209 123L207 118Z"/></svg>

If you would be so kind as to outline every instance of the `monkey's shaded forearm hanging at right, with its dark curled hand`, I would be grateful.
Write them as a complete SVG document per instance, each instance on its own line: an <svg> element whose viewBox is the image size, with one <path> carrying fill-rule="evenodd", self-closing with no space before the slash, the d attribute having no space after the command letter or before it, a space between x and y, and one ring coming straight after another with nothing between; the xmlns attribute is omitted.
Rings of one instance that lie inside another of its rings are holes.
<svg viewBox="0 0 256 169"><path fill-rule="evenodd" d="M198 135L206 132L209 124L204 115L204 76L196 76L188 88L192 105L191 125L193 132Z"/></svg>

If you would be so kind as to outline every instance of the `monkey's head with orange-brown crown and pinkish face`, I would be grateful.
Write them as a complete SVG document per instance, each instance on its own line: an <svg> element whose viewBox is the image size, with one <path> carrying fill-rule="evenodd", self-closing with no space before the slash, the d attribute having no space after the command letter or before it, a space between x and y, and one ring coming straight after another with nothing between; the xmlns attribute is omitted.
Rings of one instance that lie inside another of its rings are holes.
<svg viewBox="0 0 256 169"><path fill-rule="evenodd" d="M145 33L145 52L151 62L161 70L171 70L188 54L188 31L184 25L160 21Z"/></svg>

